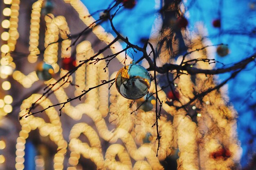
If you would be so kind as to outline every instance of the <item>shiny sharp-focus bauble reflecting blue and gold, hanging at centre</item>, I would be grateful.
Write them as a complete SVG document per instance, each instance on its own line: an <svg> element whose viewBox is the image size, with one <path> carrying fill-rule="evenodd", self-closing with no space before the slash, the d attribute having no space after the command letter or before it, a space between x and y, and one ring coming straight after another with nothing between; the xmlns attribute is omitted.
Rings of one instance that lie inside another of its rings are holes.
<svg viewBox="0 0 256 170"><path fill-rule="evenodd" d="M148 92L151 79L144 67L132 63L117 72L115 82L117 90L122 96L135 100Z"/></svg>

